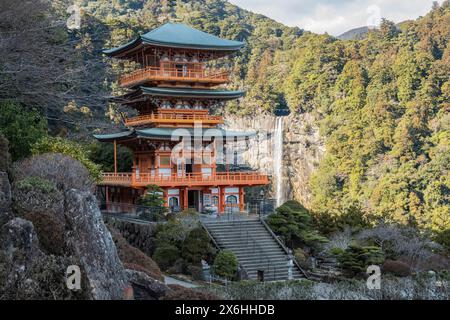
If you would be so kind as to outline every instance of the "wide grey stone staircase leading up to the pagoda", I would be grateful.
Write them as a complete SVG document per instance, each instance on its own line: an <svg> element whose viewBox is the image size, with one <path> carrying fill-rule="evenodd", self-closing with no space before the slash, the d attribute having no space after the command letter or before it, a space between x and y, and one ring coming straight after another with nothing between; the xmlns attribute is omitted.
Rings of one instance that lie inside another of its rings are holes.
<svg viewBox="0 0 450 320"><path fill-rule="evenodd" d="M249 279L258 279L260 271L264 281L288 280L288 254L259 219L209 220L203 226L220 249L236 255ZM295 264L292 275L294 279L305 277Z"/></svg>

